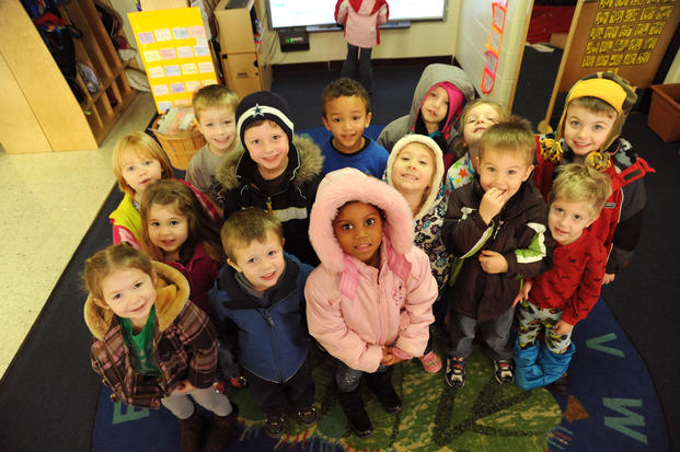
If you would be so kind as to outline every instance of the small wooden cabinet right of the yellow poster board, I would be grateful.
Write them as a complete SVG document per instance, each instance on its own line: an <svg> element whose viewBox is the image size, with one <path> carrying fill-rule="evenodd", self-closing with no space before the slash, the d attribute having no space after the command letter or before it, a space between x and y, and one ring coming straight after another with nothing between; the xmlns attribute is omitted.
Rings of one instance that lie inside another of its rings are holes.
<svg viewBox="0 0 680 452"><path fill-rule="evenodd" d="M227 85L239 98L272 86L272 66L264 59L264 11L256 0L221 0L215 8L220 60Z"/></svg>

